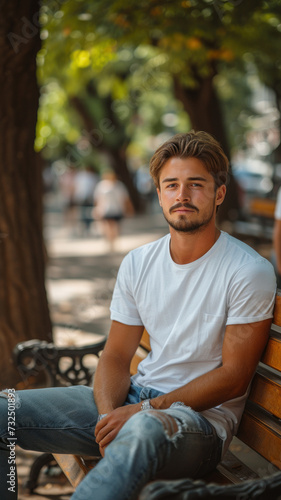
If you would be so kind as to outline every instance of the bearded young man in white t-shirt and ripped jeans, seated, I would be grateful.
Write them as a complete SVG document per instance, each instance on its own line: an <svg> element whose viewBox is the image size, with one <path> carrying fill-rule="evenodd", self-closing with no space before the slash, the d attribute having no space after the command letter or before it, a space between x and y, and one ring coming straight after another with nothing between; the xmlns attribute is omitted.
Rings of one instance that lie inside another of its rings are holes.
<svg viewBox="0 0 281 500"><path fill-rule="evenodd" d="M74 500L137 499L152 479L215 468L268 338L273 268L215 224L228 171L219 144L204 132L175 136L150 171L170 234L130 252L120 267L95 402L87 387L18 394L20 446L89 455L99 446L103 459ZM143 327L151 353L131 379ZM3 397L0 404L7 460ZM1 480L1 498L10 498Z"/></svg>

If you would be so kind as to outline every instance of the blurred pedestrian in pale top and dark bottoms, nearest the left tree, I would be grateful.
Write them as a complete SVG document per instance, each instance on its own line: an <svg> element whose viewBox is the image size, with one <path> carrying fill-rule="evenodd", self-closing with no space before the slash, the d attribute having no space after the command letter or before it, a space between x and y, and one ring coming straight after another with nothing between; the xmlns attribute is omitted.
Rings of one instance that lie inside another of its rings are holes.
<svg viewBox="0 0 281 500"><path fill-rule="evenodd" d="M78 218L86 233L90 232L93 222L93 196L98 182L99 175L91 166L80 170L75 178L74 201L78 207Z"/></svg>

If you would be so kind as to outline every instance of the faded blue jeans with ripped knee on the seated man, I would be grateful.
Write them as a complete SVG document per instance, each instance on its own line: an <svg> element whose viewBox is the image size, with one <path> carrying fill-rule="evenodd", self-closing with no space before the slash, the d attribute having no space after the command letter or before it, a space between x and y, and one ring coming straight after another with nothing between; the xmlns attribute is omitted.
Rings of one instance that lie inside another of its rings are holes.
<svg viewBox="0 0 281 500"><path fill-rule="evenodd" d="M125 404L159 394L132 385ZM10 417L9 427L8 410L9 415L15 414L15 425ZM16 499L15 444L49 453L97 455L97 417L89 387L18 391L10 399L0 392L1 500ZM212 425L186 406L138 412L106 448L104 458L80 483L72 500L133 500L152 479L202 477L220 461L221 448Z"/></svg>

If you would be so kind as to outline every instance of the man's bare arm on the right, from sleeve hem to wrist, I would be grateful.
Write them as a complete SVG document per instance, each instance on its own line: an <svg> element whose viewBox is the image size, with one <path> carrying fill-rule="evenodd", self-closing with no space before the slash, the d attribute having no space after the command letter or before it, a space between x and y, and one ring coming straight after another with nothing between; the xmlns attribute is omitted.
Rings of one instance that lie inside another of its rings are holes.
<svg viewBox="0 0 281 500"><path fill-rule="evenodd" d="M271 319L226 327L222 365L168 394L151 400L156 409L182 401L195 411L213 408L245 394L266 346Z"/></svg>

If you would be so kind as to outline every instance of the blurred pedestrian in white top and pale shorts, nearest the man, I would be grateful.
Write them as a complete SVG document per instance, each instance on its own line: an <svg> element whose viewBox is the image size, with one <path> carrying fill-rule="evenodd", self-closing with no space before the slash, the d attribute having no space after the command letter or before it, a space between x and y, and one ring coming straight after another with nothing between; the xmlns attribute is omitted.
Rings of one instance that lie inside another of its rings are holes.
<svg viewBox="0 0 281 500"><path fill-rule="evenodd" d="M133 213L129 194L114 172L106 172L94 192L94 218L101 223L102 232L113 250L120 234L120 222Z"/></svg>

